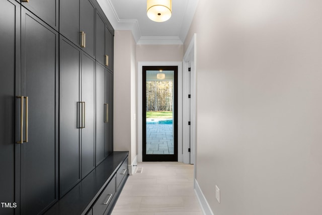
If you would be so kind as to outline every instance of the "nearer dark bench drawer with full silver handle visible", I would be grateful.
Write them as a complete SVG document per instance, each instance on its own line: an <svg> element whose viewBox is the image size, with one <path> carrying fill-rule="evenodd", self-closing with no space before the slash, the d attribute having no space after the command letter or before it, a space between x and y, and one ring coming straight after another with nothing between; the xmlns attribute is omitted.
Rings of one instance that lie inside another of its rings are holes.
<svg viewBox="0 0 322 215"><path fill-rule="evenodd" d="M113 196L115 194L116 188L116 176L112 178L112 180L105 187L104 191L96 201L93 206L93 215L102 215L109 204L112 202Z"/></svg>

